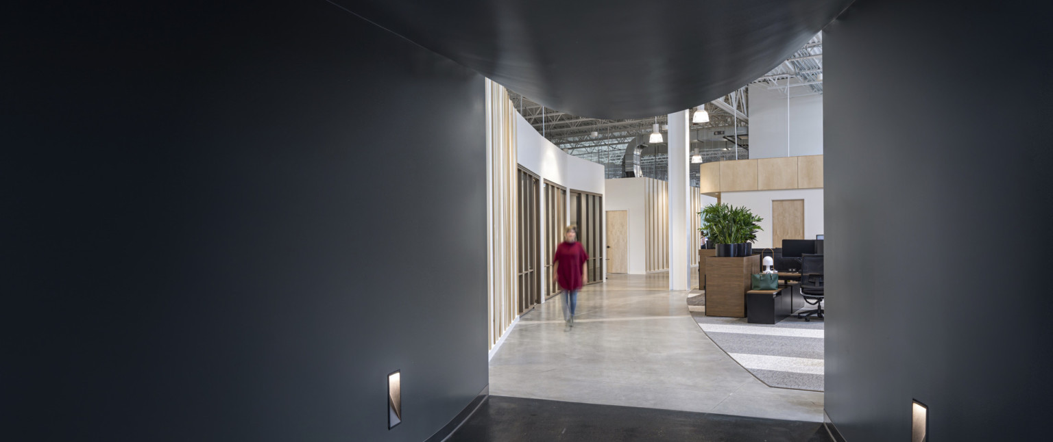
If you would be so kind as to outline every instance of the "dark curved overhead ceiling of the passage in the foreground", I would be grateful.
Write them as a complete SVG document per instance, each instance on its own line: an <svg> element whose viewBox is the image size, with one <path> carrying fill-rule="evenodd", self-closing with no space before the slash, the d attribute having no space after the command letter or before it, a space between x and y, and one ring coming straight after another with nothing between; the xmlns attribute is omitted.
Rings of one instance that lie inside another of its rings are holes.
<svg viewBox="0 0 1053 442"><path fill-rule="evenodd" d="M763 76L852 0L331 0L550 108L642 118Z"/></svg>

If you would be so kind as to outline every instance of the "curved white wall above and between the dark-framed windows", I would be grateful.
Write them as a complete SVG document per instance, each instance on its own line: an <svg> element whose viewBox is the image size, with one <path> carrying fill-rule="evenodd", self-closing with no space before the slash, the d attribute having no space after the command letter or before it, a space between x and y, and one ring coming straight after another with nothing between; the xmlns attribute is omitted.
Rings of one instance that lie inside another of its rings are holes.
<svg viewBox="0 0 1053 442"><path fill-rule="evenodd" d="M604 195L603 204L604 206L607 205L607 195L603 188L603 166L563 152L556 145L552 144L552 142L541 136L540 133L537 133L537 130L519 113L516 113L516 150L519 165L541 176L542 187L539 190L542 197L544 197L543 180L548 180L567 187L568 190L583 190ZM570 195L570 192L568 192L568 195ZM544 206L544 204L541 204L541 238L549 237L549 232L545 231L544 219L548 214L545 213ZM568 203L564 206L570 211L571 205ZM567 219L570 219L570 213L565 215ZM605 238L605 213L603 219L600 220L600 227L603 230L603 237ZM543 269L544 265L552 260L552 253L554 252L551 249L552 246L547 240L541 240L540 255L542 260L539 262L541 266L539 269ZM603 272L604 274L607 272L605 259L603 260ZM544 283L542 285L542 294L544 296L550 295L547 291L548 283Z"/></svg>

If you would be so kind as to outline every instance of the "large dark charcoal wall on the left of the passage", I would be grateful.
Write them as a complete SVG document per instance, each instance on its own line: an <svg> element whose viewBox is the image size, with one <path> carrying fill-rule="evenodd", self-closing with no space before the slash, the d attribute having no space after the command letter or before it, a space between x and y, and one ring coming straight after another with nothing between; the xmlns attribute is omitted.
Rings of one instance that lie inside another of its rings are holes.
<svg viewBox="0 0 1053 442"><path fill-rule="evenodd" d="M2 439L422 441L486 385L482 77L323 1L4 15Z"/></svg>

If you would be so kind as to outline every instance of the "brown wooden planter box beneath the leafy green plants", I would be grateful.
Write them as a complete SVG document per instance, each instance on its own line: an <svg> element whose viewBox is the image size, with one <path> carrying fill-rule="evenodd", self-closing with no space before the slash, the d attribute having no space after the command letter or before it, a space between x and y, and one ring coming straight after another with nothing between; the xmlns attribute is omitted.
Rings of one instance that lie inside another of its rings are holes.
<svg viewBox="0 0 1053 442"><path fill-rule="evenodd" d="M760 255L706 258L706 316L746 317L750 275L760 273Z"/></svg>

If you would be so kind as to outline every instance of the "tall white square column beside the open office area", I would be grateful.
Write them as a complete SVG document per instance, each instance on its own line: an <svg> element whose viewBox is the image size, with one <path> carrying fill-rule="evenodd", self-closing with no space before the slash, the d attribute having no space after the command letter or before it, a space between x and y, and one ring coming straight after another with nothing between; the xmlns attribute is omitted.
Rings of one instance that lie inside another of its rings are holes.
<svg viewBox="0 0 1053 442"><path fill-rule="evenodd" d="M669 290L691 290L690 110L669 114Z"/></svg>

